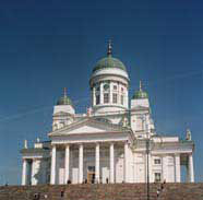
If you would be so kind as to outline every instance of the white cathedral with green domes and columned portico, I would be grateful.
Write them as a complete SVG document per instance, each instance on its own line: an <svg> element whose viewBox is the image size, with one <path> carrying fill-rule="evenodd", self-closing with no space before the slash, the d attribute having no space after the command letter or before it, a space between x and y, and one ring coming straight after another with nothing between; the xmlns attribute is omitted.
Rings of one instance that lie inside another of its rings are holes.
<svg viewBox="0 0 203 200"><path fill-rule="evenodd" d="M53 106L49 141L33 148L25 140L22 185L82 183L194 181L194 143L156 132L147 93L129 98L130 79L124 64L112 57L111 44L89 79L92 105L76 114L64 91Z"/></svg>

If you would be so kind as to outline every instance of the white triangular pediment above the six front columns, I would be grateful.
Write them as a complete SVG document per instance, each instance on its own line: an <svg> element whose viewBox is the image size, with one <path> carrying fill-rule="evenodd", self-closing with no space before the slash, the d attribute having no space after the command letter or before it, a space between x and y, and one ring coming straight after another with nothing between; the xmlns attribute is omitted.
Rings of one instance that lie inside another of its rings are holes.
<svg viewBox="0 0 203 200"><path fill-rule="evenodd" d="M110 125L110 123L97 121L94 119L84 119L81 121L73 122L53 132L50 132L49 136L122 132L124 130L127 129L118 125Z"/></svg>

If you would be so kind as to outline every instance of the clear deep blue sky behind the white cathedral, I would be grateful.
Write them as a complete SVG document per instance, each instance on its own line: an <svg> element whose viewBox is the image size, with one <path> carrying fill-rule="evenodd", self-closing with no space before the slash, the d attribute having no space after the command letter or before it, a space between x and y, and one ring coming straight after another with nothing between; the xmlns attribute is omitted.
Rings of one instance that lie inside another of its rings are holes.
<svg viewBox="0 0 203 200"><path fill-rule="evenodd" d="M158 133L195 141L203 180L203 3L191 0L0 1L0 184L19 184L23 140L46 139L68 87L77 113L88 79L112 39L130 96L143 80Z"/></svg>

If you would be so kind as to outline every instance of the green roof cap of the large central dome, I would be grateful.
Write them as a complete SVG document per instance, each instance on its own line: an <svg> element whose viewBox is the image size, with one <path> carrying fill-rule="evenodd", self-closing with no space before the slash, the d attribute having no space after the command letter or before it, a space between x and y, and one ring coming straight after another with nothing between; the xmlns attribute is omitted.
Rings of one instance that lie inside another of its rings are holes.
<svg viewBox="0 0 203 200"><path fill-rule="evenodd" d="M93 72L105 68L119 68L127 71L126 66L119 59L114 58L110 55L100 59L93 69Z"/></svg>

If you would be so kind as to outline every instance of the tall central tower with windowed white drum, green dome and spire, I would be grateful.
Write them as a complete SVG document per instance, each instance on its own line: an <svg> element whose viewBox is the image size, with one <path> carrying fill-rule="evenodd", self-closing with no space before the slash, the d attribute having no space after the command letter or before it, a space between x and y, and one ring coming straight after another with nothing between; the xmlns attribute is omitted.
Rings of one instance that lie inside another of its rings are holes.
<svg viewBox="0 0 203 200"><path fill-rule="evenodd" d="M112 57L111 43L107 56L93 69L89 86L94 113L114 113L128 109L129 75L126 66Z"/></svg>

